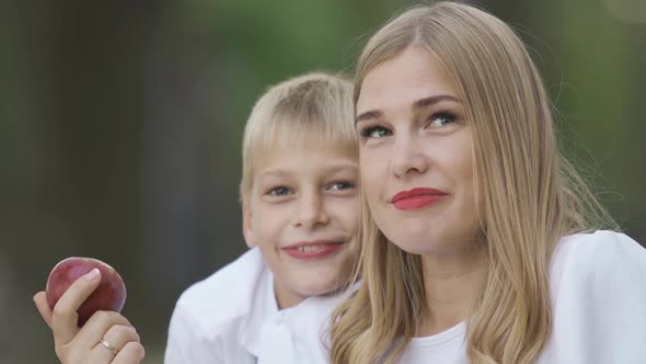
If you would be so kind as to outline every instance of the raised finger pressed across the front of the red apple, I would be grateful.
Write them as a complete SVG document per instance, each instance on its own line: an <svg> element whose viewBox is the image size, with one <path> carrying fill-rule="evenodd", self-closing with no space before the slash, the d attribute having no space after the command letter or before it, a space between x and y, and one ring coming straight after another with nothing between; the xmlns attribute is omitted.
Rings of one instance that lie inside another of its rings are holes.
<svg viewBox="0 0 646 364"><path fill-rule="evenodd" d="M101 282L101 273L93 269L90 273L79 277L54 306L51 316L51 331L57 346L70 342L79 332L77 310L85 299L96 289Z"/></svg>

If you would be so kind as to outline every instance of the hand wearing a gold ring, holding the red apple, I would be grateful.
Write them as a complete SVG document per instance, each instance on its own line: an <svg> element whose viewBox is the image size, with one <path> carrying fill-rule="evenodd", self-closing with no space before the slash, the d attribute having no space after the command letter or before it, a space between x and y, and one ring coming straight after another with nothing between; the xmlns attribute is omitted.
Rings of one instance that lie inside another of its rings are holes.
<svg viewBox="0 0 646 364"><path fill-rule="evenodd" d="M139 363L145 350L139 334L122 315L96 311L79 328L77 310L99 286L99 270L81 276L49 309L45 292L34 296L36 308L54 333L56 355L62 364L131 364Z"/></svg>

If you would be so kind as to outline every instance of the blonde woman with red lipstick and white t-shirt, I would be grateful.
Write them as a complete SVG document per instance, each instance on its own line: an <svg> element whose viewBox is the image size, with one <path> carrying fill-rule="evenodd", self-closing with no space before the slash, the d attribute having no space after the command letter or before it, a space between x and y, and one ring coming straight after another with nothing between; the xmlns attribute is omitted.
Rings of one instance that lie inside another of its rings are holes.
<svg viewBox="0 0 646 364"><path fill-rule="evenodd" d="M644 363L646 250L560 156L508 25L411 9L371 37L355 81L362 282L326 360Z"/></svg>

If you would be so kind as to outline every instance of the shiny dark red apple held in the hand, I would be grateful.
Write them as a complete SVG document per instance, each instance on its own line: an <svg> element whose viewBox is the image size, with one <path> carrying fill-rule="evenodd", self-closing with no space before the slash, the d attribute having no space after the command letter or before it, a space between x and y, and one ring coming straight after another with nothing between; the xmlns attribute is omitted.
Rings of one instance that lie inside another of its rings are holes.
<svg viewBox="0 0 646 364"><path fill-rule="evenodd" d="M122 276L112 266L92 258L70 257L61 260L49 273L45 287L47 305L54 309L60 296L80 276L93 269L101 272L101 283L88 299L79 307L79 327L99 310L120 312L126 303L126 285Z"/></svg>

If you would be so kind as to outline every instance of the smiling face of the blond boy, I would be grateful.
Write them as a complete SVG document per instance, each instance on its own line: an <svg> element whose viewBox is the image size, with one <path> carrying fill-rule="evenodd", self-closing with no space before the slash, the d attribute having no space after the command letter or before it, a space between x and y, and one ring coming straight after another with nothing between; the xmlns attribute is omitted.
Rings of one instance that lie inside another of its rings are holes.
<svg viewBox="0 0 646 364"><path fill-rule="evenodd" d="M280 308L349 278L359 229L358 164L339 149L309 145L272 150L254 161L244 237L274 273Z"/></svg>

